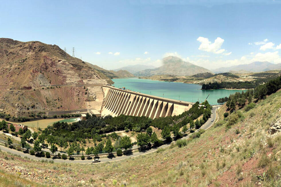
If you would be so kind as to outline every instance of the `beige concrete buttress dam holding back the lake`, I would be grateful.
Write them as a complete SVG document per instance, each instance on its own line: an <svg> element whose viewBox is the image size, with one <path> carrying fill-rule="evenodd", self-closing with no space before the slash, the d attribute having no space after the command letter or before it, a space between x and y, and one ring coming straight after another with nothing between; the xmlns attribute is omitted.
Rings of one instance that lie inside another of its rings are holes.
<svg viewBox="0 0 281 187"><path fill-rule="evenodd" d="M103 86L103 91L102 116L112 115L115 117L124 114L146 116L154 119L182 114L194 104L122 90L113 86Z"/></svg>

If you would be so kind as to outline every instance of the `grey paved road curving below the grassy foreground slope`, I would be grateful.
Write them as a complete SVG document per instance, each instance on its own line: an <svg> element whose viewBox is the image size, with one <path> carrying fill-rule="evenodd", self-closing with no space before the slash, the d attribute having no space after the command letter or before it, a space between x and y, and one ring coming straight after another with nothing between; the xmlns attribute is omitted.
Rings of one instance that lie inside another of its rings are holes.
<svg viewBox="0 0 281 187"><path fill-rule="evenodd" d="M212 109L212 115L210 117L210 119L208 119L208 121L202 125L202 129L208 129L209 127L211 127L215 121L216 121L216 117L217 117L217 114L216 114L216 110L219 108L220 106L214 106L213 109ZM213 121L212 121L213 120ZM197 130L196 130L197 131ZM190 135L188 136L185 136L183 137L182 139L187 139ZM119 161L119 160L124 160L126 158L132 158L132 157L136 157L136 156L139 156L139 155L145 155L145 154L148 154L148 153L152 153L152 152L155 152L157 151L157 149L159 148L165 148L165 147L169 147L170 146L170 143L169 144L165 144L165 145L162 145L160 147L157 147L157 148L153 148L153 149L150 149L150 150L146 150L146 151L141 151L141 152L133 152L131 153L130 155L122 155L122 156L117 156L117 157L113 157L113 158L100 158L101 162L100 163L103 163L103 162L114 162L114 161ZM8 147L5 147L3 145L0 145L0 149L2 151L6 151L6 152L10 152L10 153L13 153L13 154L16 154L16 155L20 155L22 157L27 157L27 158L30 158L30 159L33 159L33 160L53 160L52 158L39 158L39 157L35 157L34 155L30 155L28 153L23 153L21 151L17 151L15 149L10 149ZM54 162L63 162L63 163L80 163L80 164L90 164L92 162L92 160L80 160L80 158L78 159L75 159L75 160L63 160L63 159L54 159L53 160Z"/></svg>

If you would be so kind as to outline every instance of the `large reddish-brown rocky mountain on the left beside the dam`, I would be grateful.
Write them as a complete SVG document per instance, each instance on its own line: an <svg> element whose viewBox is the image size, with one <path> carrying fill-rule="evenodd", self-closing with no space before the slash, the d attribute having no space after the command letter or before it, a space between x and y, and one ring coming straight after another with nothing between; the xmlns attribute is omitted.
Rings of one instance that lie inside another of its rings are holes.
<svg viewBox="0 0 281 187"><path fill-rule="evenodd" d="M112 81L56 45L0 38L0 108L15 116L46 110L85 109Z"/></svg>

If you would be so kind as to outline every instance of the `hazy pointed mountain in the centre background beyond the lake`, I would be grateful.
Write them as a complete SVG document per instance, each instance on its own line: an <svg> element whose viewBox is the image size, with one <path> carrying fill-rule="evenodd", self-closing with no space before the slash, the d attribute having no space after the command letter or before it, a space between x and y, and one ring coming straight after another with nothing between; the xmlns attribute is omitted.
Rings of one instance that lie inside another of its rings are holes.
<svg viewBox="0 0 281 187"><path fill-rule="evenodd" d="M190 76L198 73L211 72L210 70L196 66L190 62L184 62L176 56L163 58L163 66L154 69L147 69L134 73L135 76L153 76L153 75L177 75Z"/></svg>

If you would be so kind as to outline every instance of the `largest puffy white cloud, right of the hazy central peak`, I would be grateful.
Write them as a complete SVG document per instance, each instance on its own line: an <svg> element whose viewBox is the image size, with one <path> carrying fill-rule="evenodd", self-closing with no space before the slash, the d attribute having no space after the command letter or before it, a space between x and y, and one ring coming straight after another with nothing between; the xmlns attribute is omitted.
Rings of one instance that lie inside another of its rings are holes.
<svg viewBox="0 0 281 187"><path fill-rule="evenodd" d="M214 43L210 42L208 38L204 38L202 36L197 38L197 41L201 42L201 44L198 48L199 50L212 52L212 53L215 53L215 54L220 54L220 53L223 53L225 51L225 49L221 49L221 46L223 45L223 42L225 40L223 40L220 37L216 38Z"/></svg>

